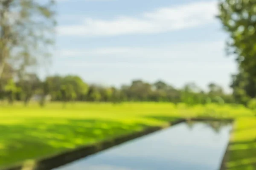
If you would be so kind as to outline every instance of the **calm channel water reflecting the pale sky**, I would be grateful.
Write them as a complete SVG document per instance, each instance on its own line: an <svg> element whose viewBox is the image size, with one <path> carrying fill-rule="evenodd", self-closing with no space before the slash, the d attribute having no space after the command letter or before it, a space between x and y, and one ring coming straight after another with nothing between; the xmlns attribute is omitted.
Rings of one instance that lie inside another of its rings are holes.
<svg viewBox="0 0 256 170"><path fill-rule="evenodd" d="M217 170L231 126L180 123L55 170Z"/></svg>

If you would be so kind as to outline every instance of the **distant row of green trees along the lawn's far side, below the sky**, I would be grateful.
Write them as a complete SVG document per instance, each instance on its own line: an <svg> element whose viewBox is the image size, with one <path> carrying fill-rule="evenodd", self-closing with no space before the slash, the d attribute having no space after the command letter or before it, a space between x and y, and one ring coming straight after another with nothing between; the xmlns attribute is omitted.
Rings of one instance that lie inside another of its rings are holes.
<svg viewBox="0 0 256 170"><path fill-rule="evenodd" d="M6 76L7 77L7 76ZM201 90L195 83L187 83L183 88L174 88L163 81L148 83L134 80L120 88L87 84L78 76L51 76L41 81L36 74L27 74L15 81L12 77L0 83L0 99L12 104L15 100L28 105L33 96L40 96L44 106L46 97L61 102L184 102L187 105L233 103L233 96L225 94L221 86L210 83L208 91Z"/></svg>

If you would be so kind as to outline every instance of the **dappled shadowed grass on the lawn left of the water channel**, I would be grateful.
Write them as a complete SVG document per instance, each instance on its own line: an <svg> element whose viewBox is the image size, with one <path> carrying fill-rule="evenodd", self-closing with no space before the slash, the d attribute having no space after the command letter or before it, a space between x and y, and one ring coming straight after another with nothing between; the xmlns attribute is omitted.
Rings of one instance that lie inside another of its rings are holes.
<svg viewBox="0 0 256 170"><path fill-rule="evenodd" d="M112 139L144 127L93 119L35 119L24 125L0 125L0 167Z"/></svg>

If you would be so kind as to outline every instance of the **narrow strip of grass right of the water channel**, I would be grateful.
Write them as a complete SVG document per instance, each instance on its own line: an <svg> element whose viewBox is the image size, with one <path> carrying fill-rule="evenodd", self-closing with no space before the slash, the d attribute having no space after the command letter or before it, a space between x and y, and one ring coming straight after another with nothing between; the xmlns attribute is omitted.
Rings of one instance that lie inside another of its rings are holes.
<svg viewBox="0 0 256 170"><path fill-rule="evenodd" d="M236 120L228 148L228 170L256 169L256 118Z"/></svg>

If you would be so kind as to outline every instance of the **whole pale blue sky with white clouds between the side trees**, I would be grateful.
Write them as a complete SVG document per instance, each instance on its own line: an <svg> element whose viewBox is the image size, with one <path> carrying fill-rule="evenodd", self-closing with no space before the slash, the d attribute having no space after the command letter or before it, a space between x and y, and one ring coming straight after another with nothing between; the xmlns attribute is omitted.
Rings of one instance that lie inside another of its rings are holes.
<svg viewBox="0 0 256 170"><path fill-rule="evenodd" d="M217 0L57 0L56 51L47 75L76 74L121 85L162 79L176 87L216 82L236 72Z"/></svg>

